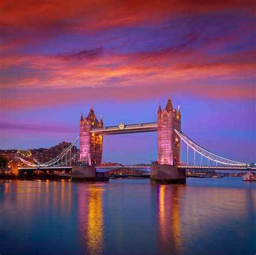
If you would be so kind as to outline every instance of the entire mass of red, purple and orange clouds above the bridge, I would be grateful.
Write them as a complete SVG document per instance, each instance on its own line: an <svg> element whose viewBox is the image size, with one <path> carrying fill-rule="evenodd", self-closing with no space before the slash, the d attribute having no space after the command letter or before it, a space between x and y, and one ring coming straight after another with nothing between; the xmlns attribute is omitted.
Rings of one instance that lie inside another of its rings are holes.
<svg viewBox="0 0 256 255"><path fill-rule="evenodd" d="M124 100L165 91L254 99L253 6L252 1L2 2L2 107L40 107L40 100L62 104L63 98L82 100L81 93Z"/></svg>

